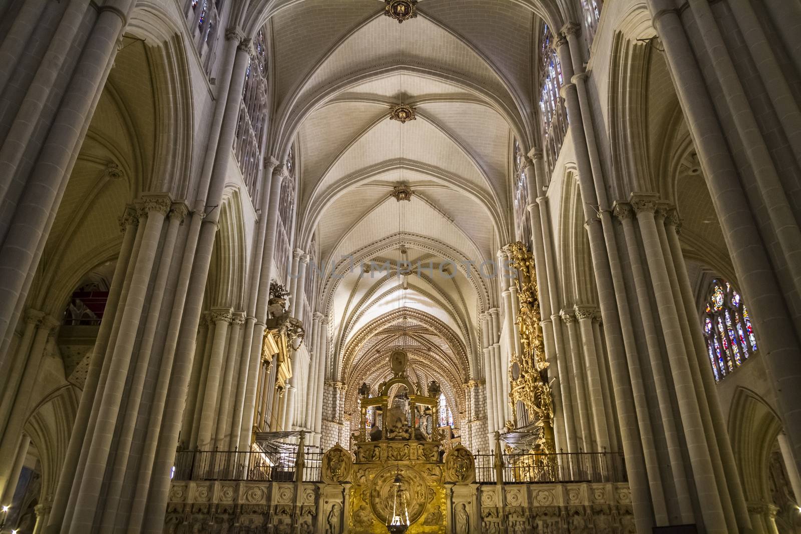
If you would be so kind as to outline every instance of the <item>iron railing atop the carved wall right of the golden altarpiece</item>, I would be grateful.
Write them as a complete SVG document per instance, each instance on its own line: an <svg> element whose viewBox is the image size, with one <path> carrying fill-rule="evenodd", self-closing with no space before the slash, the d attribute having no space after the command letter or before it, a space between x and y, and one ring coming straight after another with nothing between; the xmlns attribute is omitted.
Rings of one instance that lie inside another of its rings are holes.
<svg viewBox="0 0 801 534"><path fill-rule="evenodd" d="M576 452L556 454L477 454L476 480L496 483L498 473L506 484L557 484L565 482L627 482L622 454Z"/></svg>

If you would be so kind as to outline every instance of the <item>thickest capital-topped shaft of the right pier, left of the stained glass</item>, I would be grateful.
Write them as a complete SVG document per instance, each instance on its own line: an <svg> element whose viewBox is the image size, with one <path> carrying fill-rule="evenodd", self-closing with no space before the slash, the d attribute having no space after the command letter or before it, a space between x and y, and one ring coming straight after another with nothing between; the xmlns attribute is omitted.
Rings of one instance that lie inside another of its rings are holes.
<svg viewBox="0 0 801 534"><path fill-rule="evenodd" d="M678 399L678 410L682 416L686 447L690 456L698 501L707 532L736 532L737 525L731 524L734 517L723 513L723 504L715 483L714 468L710 457L710 444L706 441L701 420L698 399L695 396L693 378L687 361L682 331L678 326L678 313L668 279L665 257L654 221L656 203L652 199L633 197L631 201L637 213L642 245L651 275L651 283L659 309L659 319L664 339L670 371Z"/></svg>

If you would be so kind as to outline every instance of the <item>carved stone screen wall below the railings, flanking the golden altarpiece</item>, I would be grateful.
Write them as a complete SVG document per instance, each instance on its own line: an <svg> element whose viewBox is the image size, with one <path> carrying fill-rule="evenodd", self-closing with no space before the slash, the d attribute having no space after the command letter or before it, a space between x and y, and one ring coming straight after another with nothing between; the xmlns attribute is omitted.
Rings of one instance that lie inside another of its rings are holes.
<svg viewBox="0 0 801 534"><path fill-rule="evenodd" d="M345 534L349 486L175 481L164 532ZM445 497L449 534L635 532L628 484L445 484Z"/></svg>

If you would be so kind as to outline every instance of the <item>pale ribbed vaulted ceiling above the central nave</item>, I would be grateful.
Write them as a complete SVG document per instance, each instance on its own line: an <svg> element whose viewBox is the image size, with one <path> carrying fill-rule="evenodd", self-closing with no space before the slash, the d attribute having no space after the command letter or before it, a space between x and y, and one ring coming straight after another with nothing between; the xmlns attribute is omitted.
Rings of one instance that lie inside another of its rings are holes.
<svg viewBox="0 0 801 534"><path fill-rule="evenodd" d="M497 281L478 266L513 239L513 140L533 147L535 36L558 4L421 0L399 24L383 1L251 2L271 35L269 144L294 147L300 175L296 243L336 266L319 307L338 379L380 380L388 347L406 346L456 398L481 367ZM389 119L400 103L416 120ZM425 268L399 275L406 262Z"/></svg>

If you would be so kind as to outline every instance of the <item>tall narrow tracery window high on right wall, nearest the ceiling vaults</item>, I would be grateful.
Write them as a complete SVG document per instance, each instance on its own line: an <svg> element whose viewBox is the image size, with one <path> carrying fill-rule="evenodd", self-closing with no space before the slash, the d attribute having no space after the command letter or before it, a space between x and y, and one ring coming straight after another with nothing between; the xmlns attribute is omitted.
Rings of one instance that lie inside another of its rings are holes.
<svg viewBox="0 0 801 534"><path fill-rule="evenodd" d="M559 90L562 89L562 65L559 63L553 34L547 24L540 35L540 118L542 146L549 173L553 172L567 132L567 113Z"/></svg>

